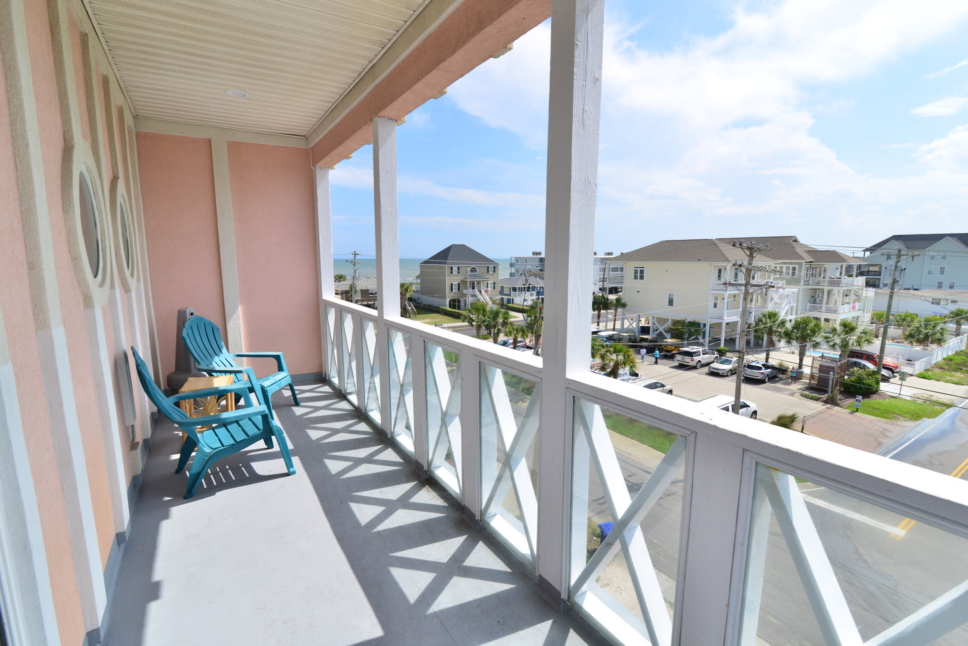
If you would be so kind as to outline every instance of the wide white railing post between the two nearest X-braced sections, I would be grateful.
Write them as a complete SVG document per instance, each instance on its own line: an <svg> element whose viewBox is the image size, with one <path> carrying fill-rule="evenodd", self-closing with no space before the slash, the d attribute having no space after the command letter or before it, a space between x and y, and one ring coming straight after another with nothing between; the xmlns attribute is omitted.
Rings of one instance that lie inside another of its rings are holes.
<svg viewBox="0 0 968 646"><path fill-rule="evenodd" d="M737 551L746 544L737 528L738 522L748 527L750 501L741 501L741 491L744 470L752 466L743 463L739 446L707 435L694 437L693 460L685 469L688 516L682 525L678 621L672 643L731 643L726 600L733 590Z"/></svg>

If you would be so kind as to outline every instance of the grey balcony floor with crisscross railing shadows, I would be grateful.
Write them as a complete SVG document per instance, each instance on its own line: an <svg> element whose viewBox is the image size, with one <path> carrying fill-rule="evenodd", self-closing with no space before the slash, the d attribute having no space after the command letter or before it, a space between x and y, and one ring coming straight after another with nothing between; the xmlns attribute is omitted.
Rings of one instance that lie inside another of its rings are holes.
<svg viewBox="0 0 968 646"><path fill-rule="evenodd" d="M158 424L106 644L600 642L329 386L299 397L274 401L295 476L259 443L187 501L180 434Z"/></svg>

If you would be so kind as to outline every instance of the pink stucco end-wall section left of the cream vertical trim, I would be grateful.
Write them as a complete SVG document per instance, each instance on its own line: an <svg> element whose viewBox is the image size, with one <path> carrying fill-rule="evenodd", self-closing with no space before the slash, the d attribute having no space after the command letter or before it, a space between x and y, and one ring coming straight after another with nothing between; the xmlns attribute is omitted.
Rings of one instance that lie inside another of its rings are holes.
<svg viewBox="0 0 968 646"><path fill-rule="evenodd" d="M162 378L179 307L226 328L209 139L137 133L137 164Z"/></svg>

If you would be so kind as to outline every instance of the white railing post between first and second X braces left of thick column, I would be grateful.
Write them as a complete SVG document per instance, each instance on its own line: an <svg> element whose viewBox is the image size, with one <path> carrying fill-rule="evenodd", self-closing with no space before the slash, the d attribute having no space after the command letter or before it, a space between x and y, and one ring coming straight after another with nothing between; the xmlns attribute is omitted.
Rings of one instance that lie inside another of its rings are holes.
<svg viewBox="0 0 968 646"><path fill-rule="evenodd" d="M461 371L461 492L464 513L481 517L481 369L477 357L465 349ZM488 465L493 468L492 465Z"/></svg>

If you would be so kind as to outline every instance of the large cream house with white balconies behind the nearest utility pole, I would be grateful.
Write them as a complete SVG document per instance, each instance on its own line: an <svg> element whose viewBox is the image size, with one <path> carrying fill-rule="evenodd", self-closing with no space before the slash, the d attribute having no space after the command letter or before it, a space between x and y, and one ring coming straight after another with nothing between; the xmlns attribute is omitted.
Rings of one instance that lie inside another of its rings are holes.
<svg viewBox="0 0 968 646"><path fill-rule="evenodd" d="M806 315L828 325L869 320L873 293L862 278L853 277L850 257L814 249L796 236L754 239L770 249L756 257L765 269L753 277L758 287L750 297L750 321L770 310L786 320ZM632 312L648 315L651 332L659 335L668 335L674 321L693 320L703 325L708 341L735 340L743 274L734 262L746 256L733 240L662 240L616 257L609 272L623 277L626 319Z"/></svg>

